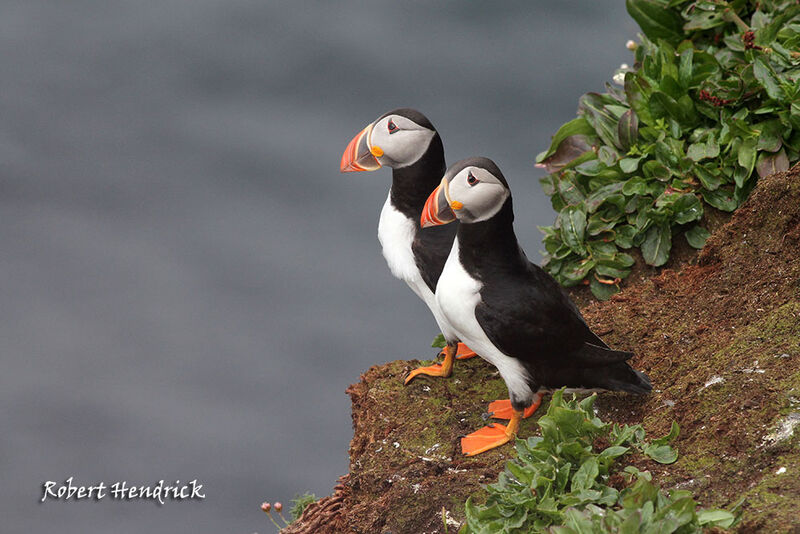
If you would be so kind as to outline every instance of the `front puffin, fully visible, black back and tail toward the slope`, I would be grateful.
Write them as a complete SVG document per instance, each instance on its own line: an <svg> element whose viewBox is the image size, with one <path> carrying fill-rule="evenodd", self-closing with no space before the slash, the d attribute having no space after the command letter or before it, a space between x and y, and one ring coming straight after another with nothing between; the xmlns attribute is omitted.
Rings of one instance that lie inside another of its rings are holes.
<svg viewBox="0 0 800 534"><path fill-rule="evenodd" d="M513 439L520 419L547 391L650 392L647 375L627 363L633 353L609 348L558 282L528 261L514 234L508 182L492 160L452 165L428 197L420 226L456 220L436 303L451 332L497 367L512 408L507 426L491 424L463 437L465 455Z"/></svg>

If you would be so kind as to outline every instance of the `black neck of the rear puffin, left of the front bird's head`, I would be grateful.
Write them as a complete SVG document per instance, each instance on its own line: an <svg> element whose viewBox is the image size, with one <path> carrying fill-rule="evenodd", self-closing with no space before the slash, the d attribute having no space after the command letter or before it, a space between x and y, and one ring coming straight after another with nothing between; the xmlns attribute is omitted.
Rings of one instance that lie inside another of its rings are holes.
<svg viewBox="0 0 800 534"><path fill-rule="evenodd" d="M421 158L408 167L392 170L392 205L419 224L425 201L442 181L445 170L444 146L436 133Z"/></svg>

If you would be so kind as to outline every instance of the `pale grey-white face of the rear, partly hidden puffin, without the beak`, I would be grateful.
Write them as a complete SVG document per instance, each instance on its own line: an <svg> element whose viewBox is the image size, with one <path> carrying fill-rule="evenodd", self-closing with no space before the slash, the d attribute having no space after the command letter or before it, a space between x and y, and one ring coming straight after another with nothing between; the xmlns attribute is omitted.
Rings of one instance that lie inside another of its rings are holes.
<svg viewBox="0 0 800 534"><path fill-rule="evenodd" d="M425 154L435 133L401 115L388 115L373 125L369 147L381 165L407 167Z"/></svg>

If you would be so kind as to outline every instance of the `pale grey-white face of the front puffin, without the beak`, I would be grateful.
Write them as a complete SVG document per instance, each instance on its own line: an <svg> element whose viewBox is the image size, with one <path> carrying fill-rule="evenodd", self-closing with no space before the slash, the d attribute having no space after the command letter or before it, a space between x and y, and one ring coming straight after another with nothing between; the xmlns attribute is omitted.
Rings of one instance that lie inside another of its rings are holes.
<svg viewBox="0 0 800 534"><path fill-rule="evenodd" d="M466 223L491 219L511 194L492 173L473 166L459 171L450 180L446 192L456 217Z"/></svg>

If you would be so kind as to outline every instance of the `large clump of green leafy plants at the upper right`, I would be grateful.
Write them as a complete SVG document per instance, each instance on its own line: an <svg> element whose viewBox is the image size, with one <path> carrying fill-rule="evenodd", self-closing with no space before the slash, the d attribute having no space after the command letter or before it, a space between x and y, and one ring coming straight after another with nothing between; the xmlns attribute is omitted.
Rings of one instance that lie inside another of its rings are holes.
<svg viewBox="0 0 800 534"><path fill-rule="evenodd" d="M800 5L794 0L626 0L642 29L633 68L536 158L558 212L545 268L606 299L634 264L702 248L706 205L733 211L759 176L800 159Z"/></svg>

